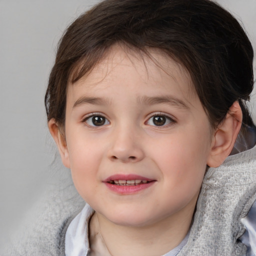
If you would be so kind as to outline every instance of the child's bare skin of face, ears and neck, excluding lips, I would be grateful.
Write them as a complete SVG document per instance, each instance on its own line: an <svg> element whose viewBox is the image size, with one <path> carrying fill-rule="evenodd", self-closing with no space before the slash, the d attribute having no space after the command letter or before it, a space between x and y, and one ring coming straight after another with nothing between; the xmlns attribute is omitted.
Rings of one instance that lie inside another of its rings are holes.
<svg viewBox="0 0 256 256"><path fill-rule="evenodd" d="M177 246L189 229L206 164L221 164L240 127L234 104L212 131L186 70L156 50L150 53L141 59L112 47L87 76L68 85L65 135L49 121L62 161L95 210L92 221L97 218L112 255L162 255ZM103 117L102 125L93 116ZM166 121L156 125L156 117ZM120 194L104 182L116 173L154 182Z"/></svg>

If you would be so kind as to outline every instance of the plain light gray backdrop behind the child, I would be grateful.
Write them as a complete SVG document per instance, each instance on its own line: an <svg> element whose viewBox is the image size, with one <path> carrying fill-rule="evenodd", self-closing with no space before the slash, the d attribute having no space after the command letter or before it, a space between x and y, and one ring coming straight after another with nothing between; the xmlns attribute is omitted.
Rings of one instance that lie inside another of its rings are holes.
<svg viewBox="0 0 256 256"><path fill-rule="evenodd" d="M43 98L58 39L95 2L0 0L0 246L45 187L69 171L54 161ZM243 23L255 49L256 0L218 2ZM252 102L255 122L255 96Z"/></svg>

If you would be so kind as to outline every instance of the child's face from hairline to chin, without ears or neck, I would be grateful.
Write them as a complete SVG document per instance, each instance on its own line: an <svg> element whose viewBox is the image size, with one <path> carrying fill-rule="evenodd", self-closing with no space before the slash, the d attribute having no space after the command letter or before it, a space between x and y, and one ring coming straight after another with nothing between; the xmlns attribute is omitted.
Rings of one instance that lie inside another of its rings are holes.
<svg viewBox="0 0 256 256"><path fill-rule="evenodd" d="M160 66L113 47L67 89L63 162L84 200L116 224L191 213L210 153L210 125L189 75L151 54ZM123 180L132 185L115 184Z"/></svg>

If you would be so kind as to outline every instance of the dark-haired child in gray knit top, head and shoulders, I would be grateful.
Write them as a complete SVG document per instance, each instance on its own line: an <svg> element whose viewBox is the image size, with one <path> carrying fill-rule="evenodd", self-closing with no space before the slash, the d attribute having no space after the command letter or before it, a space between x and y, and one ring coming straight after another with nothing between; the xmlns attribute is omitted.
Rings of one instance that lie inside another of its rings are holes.
<svg viewBox="0 0 256 256"><path fill-rule="evenodd" d="M78 17L45 104L87 204L61 220L47 255L255 253L252 59L210 0L104 0Z"/></svg>

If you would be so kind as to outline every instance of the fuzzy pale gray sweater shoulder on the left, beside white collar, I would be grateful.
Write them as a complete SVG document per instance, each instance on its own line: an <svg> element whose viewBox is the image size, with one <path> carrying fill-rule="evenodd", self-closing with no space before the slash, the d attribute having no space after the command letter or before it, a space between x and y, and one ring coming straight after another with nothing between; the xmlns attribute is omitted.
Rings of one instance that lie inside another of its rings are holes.
<svg viewBox="0 0 256 256"><path fill-rule="evenodd" d="M38 198L4 248L5 256L59 256L72 218L84 206L72 185L53 185Z"/></svg>

